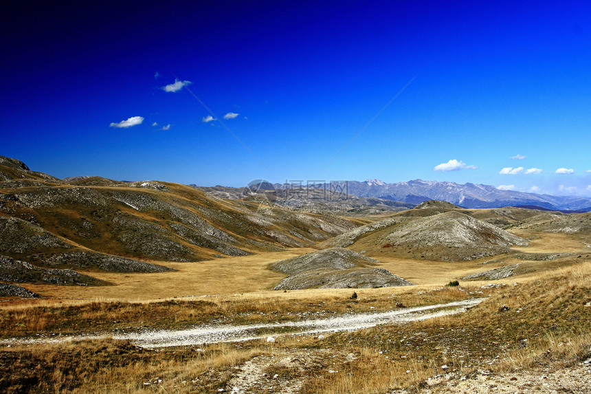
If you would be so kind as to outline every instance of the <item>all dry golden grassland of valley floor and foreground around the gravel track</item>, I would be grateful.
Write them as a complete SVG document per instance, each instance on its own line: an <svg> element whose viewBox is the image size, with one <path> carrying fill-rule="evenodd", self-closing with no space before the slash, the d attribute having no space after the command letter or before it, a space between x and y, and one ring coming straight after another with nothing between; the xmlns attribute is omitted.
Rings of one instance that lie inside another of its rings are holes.
<svg viewBox="0 0 591 394"><path fill-rule="evenodd" d="M436 389L436 382L480 370L568 368L591 356L591 250L564 234L534 235L531 245L520 251L568 256L527 261L508 255L466 262L379 256L381 267L416 283L380 289L271 291L284 275L269 270L269 263L311 248L166 262L177 271L162 274L93 272L115 284L107 287L27 285L48 298L0 303L2 338L124 327L183 328L211 321L274 322L302 318L304 313L322 317L473 296L487 300L454 316L323 337L281 336L276 342L158 351L110 339L2 344L0 391L213 393L239 388L241 393L387 393L394 388ZM515 261L526 267L517 276L446 286ZM356 299L351 299L353 292Z"/></svg>

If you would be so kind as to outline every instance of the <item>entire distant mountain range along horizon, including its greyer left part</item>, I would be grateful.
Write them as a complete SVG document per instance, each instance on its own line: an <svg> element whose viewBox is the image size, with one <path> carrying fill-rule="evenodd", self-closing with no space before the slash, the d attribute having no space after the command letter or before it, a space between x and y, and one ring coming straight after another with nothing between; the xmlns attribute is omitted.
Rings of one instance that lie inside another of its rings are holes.
<svg viewBox="0 0 591 394"><path fill-rule="evenodd" d="M350 200L349 205L353 207L357 205L376 206L378 204L390 206L391 203L388 201L397 201L399 206L389 208L390 210L410 208L424 201L439 200L456 204L462 208L519 206L538 210L591 211L591 199L585 197L541 195L515 190L500 190L495 186L484 184L456 184L455 182L423 181L422 179L393 184L379 179L367 179L364 182L342 181L309 186L271 184L269 182L251 184L245 188L190 186L226 199L241 199L247 195L274 193L276 196L274 202L282 206L293 206L295 201L303 206L309 204L311 200L316 200L317 204L317 201L322 199L319 196L324 196L332 204L344 205L344 201Z"/></svg>

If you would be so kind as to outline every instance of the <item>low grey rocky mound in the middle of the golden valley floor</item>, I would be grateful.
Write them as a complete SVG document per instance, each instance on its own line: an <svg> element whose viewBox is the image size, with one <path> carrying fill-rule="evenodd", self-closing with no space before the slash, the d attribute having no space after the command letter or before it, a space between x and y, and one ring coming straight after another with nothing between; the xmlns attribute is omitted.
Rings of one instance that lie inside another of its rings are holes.
<svg viewBox="0 0 591 394"><path fill-rule="evenodd" d="M388 270L377 268L380 262L343 248L332 248L277 261L271 268L288 274L276 290L393 287L412 285Z"/></svg>

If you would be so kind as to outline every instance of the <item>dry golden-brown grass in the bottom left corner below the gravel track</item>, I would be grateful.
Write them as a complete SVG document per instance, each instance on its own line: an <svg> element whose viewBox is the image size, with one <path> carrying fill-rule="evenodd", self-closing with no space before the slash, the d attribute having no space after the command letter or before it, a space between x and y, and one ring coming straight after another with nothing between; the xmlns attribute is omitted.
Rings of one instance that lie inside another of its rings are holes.
<svg viewBox="0 0 591 394"><path fill-rule="evenodd" d="M157 393L213 392L230 377L232 366L261 354L212 344L206 349L159 352L127 342L90 340L38 344L3 350L0 361L15 371L0 377L3 393Z"/></svg>

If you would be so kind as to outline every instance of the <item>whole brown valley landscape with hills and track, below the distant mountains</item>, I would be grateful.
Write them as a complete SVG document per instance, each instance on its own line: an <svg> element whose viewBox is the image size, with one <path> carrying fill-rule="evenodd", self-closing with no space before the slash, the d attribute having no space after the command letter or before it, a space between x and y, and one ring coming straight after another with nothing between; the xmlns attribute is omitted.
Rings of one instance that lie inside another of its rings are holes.
<svg viewBox="0 0 591 394"><path fill-rule="evenodd" d="M590 212L0 176L0 391L591 385Z"/></svg>

